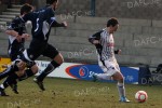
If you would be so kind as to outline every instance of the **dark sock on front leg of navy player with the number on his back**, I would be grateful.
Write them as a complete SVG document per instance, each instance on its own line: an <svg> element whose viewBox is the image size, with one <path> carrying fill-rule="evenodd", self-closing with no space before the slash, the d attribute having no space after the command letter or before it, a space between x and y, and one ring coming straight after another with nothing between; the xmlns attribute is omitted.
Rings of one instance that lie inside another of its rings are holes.
<svg viewBox="0 0 162 108"><path fill-rule="evenodd" d="M52 60L48 67L37 77L37 79L39 81L43 81L43 79L51 73L55 68L57 68L59 66L59 64L57 64L56 62Z"/></svg>

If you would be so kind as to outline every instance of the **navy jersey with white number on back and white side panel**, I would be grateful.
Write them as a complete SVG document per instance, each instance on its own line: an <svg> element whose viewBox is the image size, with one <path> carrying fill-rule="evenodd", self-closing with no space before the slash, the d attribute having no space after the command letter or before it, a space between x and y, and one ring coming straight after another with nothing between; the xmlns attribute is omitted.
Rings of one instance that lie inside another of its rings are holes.
<svg viewBox="0 0 162 108"><path fill-rule="evenodd" d="M46 42L49 40L51 27L64 27L64 24L59 24L55 21L55 12L50 6L45 6L38 12L28 13L22 19L24 22L31 21L32 39L38 39Z"/></svg>

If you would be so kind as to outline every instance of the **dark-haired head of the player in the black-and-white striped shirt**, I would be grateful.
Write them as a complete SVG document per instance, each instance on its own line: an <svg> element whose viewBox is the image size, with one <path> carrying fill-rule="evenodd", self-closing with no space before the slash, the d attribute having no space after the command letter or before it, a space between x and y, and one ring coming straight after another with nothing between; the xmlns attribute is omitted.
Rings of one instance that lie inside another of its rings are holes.
<svg viewBox="0 0 162 108"><path fill-rule="evenodd" d="M119 27L118 19L116 17L110 18L107 22L107 27L109 28L109 33L113 33L114 31L117 31Z"/></svg>

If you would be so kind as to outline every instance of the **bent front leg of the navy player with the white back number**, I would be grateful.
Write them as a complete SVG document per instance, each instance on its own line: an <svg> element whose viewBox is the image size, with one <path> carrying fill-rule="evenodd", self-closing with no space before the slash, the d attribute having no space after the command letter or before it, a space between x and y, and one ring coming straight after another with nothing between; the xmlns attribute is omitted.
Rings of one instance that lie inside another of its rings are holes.
<svg viewBox="0 0 162 108"><path fill-rule="evenodd" d="M36 79L33 79L33 81L37 82L37 84L39 85L39 87L42 91L45 90L43 86L44 78L49 73L51 73L54 69L59 67L64 62L62 54L54 46L52 46L50 44L48 44L46 50L44 51L43 55L52 58L53 60L48 65L48 67Z"/></svg>

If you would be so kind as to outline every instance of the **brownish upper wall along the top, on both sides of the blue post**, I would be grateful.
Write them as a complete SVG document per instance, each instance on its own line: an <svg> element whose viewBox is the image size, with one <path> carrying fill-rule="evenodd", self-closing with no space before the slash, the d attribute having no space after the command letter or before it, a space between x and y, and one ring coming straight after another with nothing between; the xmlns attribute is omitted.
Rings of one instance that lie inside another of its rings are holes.
<svg viewBox="0 0 162 108"><path fill-rule="evenodd" d="M87 16L89 11L91 0L59 0L57 14L78 12ZM162 19L162 0L96 0L95 11L102 17Z"/></svg>

